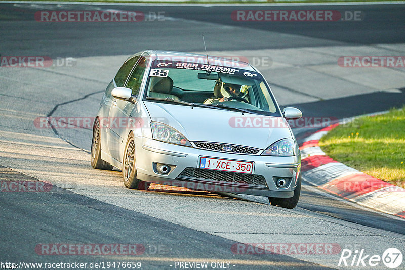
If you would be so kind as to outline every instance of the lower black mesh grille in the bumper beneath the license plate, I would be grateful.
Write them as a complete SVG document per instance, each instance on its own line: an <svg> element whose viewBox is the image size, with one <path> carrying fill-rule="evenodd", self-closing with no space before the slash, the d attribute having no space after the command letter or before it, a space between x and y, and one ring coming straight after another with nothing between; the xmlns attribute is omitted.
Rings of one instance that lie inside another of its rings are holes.
<svg viewBox="0 0 405 270"><path fill-rule="evenodd" d="M240 184L241 186L249 186L256 188L267 188L266 181L263 176L255 174L246 174L238 172L227 172L209 169L185 168L179 176L179 180L194 180L201 182L214 182L221 184Z"/></svg>

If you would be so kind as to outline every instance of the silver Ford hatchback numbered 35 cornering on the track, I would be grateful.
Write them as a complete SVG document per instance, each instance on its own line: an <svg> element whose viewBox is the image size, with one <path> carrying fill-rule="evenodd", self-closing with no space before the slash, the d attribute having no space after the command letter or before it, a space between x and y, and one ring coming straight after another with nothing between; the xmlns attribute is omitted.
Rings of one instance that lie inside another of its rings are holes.
<svg viewBox="0 0 405 270"><path fill-rule="evenodd" d="M301 156L288 119L261 73L245 62L142 51L108 85L93 127L93 168L150 183L268 197L294 208Z"/></svg>

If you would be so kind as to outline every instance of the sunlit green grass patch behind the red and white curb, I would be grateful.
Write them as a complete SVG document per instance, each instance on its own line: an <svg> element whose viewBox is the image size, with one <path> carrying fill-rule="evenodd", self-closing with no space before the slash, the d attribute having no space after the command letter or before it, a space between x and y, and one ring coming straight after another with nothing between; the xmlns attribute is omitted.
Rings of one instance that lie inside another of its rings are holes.
<svg viewBox="0 0 405 270"><path fill-rule="evenodd" d="M319 146L349 167L405 188L405 106L340 125Z"/></svg>

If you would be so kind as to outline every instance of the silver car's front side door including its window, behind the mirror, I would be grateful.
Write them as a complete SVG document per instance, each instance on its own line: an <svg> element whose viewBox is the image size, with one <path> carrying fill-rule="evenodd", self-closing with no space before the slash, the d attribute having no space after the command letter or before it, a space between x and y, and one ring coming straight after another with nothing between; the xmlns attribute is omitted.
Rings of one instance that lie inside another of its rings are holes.
<svg viewBox="0 0 405 270"><path fill-rule="evenodd" d="M123 85L124 87L132 90L132 95L138 95L145 69L146 59L144 57L140 57L135 67L132 69L127 81ZM108 149L110 150L111 157L119 162L121 162L123 155L122 145L126 143L128 129L131 126L131 123L129 122L131 120L129 115L133 108L134 104L132 102L119 100L116 98L114 98L111 103L110 113L108 115Z"/></svg>

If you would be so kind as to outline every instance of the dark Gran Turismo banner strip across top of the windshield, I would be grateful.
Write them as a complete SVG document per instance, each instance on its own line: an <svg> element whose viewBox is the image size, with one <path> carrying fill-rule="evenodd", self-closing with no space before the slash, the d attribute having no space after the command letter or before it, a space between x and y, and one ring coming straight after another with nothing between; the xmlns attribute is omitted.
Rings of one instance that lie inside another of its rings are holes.
<svg viewBox="0 0 405 270"><path fill-rule="evenodd" d="M224 60L227 63L232 63L230 60ZM235 66L236 64L233 64ZM175 68L175 69L193 69L201 71L215 71L219 73L226 73L256 80L262 80L262 76L254 71L248 71L245 69L240 69L238 67L232 66L222 66L222 65L212 65L207 63L192 63L192 62L182 62L182 61L165 61L165 60L155 60L153 61L152 68Z"/></svg>

